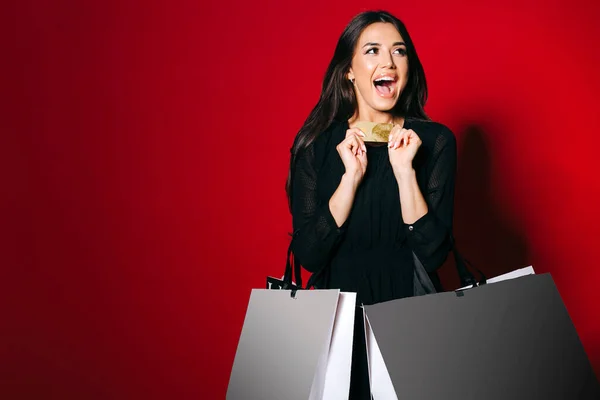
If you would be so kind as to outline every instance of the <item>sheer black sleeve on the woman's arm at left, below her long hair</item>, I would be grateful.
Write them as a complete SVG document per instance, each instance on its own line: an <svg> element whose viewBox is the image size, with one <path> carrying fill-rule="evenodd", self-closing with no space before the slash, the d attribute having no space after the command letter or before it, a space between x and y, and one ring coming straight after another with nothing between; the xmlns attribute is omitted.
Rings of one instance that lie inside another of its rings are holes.
<svg viewBox="0 0 600 400"><path fill-rule="evenodd" d="M298 154L292 176L292 248L300 264L310 272L317 272L328 263L343 231L329 210L329 201L320 201L317 196L315 164L314 145L310 145Z"/></svg>

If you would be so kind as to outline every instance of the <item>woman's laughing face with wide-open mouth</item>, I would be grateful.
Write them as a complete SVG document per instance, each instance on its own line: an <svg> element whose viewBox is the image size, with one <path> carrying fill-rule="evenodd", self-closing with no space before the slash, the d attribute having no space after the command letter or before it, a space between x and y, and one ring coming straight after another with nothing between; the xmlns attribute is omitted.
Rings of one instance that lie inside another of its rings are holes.
<svg viewBox="0 0 600 400"><path fill-rule="evenodd" d="M365 28L354 49L348 79L354 80L361 113L394 108L408 79L406 45L394 25L376 22Z"/></svg>

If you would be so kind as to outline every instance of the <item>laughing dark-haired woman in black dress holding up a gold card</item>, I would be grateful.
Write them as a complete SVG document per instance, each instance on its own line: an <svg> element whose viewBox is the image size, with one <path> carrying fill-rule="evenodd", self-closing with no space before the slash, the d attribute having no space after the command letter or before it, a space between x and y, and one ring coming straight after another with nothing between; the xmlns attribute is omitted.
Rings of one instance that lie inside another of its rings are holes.
<svg viewBox="0 0 600 400"><path fill-rule="evenodd" d="M456 141L426 98L404 24L356 16L292 147L292 248L316 287L356 292L360 305L415 295L415 261L435 280L450 250ZM393 123L388 145L365 145L358 121ZM363 332L357 312L351 399L370 398Z"/></svg>

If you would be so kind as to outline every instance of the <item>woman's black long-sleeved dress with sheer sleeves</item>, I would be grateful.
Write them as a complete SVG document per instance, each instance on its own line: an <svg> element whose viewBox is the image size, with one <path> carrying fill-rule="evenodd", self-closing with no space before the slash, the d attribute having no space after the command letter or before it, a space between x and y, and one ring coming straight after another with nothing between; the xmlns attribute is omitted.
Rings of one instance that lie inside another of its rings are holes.
<svg viewBox="0 0 600 400"><path fill-rule="evenodd" d="M402 220L398 184L387 145L368 146L365 177L346 222L337 227L329 199L345 168L336 146L347 122L334 122L298 154L292 171L293 250L302 266L318 273L316 287L357 293L357 304L413 295L413 252L435 279L450 250L456 140L445 126L406 119L422 140L413 167L428 213ZM362 309L357 308L351 399L370 399Z"/></svg>

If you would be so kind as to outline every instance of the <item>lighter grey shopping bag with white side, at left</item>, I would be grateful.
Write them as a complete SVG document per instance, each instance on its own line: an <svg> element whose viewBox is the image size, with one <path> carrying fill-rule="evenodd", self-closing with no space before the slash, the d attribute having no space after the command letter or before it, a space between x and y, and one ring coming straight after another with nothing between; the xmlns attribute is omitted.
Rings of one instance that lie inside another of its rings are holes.
<svg viewBox="0 0 600 400"><path fill-rule="evenodd" d="M227 399L348 399L355 293L254 289Z"/></svg>

